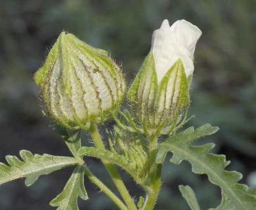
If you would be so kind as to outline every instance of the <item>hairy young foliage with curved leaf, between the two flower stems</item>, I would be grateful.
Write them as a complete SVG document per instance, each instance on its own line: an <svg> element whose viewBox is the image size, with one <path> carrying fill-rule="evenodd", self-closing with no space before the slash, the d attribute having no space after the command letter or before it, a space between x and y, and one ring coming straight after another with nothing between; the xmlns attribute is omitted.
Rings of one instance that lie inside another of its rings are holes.
<svg viewBox="0 0 256 210"><path fill-rule="evenodd" d="M124 116L120 123L128 123ZM148 142L144 135L120 129L115 126L114 131L108 132L110 150L83 146L77 155L89 156L116 164L142 184L147 176Z"/></svg>

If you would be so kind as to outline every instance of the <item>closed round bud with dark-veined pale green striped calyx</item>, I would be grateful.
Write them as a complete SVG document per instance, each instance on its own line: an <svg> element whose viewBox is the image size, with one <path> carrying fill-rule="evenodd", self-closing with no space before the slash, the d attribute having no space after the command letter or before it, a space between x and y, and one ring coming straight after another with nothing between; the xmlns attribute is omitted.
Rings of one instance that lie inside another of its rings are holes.
<svg viewBox="0 0 256 210"><path fill-rule="evenodd" d="M88 129L117 114L126 90L119 66L106 51L65 32L34 79L47 114L68 129Z"/></svg>

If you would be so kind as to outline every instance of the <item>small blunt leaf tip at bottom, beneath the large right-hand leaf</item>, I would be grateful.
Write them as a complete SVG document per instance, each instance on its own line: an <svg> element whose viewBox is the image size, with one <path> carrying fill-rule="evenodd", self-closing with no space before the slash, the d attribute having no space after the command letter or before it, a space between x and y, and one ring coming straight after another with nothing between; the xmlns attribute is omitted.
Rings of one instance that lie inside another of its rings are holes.
<svg viewBox="0 0 256 210"><path fill-rule="evenodd" d="M179 189L181 191L183 198L188 203L190 209L200 210L200 207L198 205L198 200L196 200L196 196L195 196L192 188L190 188L190 186L188 186L188 185L187 186L180 185Z"/></svg>

